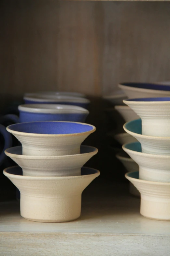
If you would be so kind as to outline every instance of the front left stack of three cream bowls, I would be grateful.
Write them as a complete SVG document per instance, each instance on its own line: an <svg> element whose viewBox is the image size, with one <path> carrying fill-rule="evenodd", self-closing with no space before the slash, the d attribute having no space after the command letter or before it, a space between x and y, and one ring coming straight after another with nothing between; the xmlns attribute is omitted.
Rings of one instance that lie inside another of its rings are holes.
<svg viewBox="0 0 170 256"><path fill-rule="evenodd" d="M19 166L4 170L20 190L21 216L39 222L80 216L81 194L99 171L82 167L98 150L81 143L95 131L89 124L41 121L10 125L22 146L5 153Z"/></svg>

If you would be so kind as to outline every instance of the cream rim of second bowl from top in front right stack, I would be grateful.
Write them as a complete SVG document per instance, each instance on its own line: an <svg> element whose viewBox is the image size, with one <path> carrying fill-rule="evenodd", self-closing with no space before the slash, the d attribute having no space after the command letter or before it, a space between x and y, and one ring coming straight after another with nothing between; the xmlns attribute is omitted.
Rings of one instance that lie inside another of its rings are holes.
<svg viewBox="0 0 170 256"><path fill-rule="evenodd" d="M161 141L167 141L167 140L170 141L170 137L157 137L157 136L143 135L143 134L139 134L139 133L135 133L133 131L130 131L126 128L126 125L129 124L130 122L136 122L140 119L141 118L126 122L123 125L123 129L125 130L125 132L127 132L128 134L132 135L135 138L146 139L146 140L149 139L149 140L156 140L156 141L160 141L160 140Z"/></svg>

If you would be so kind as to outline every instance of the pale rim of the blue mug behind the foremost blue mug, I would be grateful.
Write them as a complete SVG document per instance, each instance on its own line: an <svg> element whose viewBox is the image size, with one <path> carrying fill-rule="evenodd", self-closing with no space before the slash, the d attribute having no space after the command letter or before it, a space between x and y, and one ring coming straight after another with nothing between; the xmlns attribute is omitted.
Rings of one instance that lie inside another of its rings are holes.
<svg viewBox="0 0 170 256"><path fill-rule="evenodd" d="M39 97L38 97L39 95ZM41 96L41 97L40 97ZM43 98L44 96L44 98ZM56 95L56 98L46 98L44 94L32 94L30 96L24 96L24 100L35 101L35 102L75 102L75 103L90 103L90 100L83 97L74 97L68 95ZM50 96L50 94L49 94ZM69 104L67 104L69 105Z"/></svg>

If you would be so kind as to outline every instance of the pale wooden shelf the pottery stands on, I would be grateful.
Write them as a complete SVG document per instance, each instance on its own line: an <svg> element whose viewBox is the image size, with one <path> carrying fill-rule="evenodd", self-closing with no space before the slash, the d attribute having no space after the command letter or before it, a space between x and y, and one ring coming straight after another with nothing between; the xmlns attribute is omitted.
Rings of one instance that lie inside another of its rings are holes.
<svg viewBox="0 0 170 256"><path fill-rule="evenodd" d="M170 222L141 216L140 199L126 185L91 185L81 217L67 223L28 221L19 202L1 203L0 255L169 255Z"/></svg>

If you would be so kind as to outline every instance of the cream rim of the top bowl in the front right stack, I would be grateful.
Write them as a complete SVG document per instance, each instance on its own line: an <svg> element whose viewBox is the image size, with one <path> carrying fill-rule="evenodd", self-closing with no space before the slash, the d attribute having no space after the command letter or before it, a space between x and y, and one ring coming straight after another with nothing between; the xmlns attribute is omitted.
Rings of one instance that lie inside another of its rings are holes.
<svg viewBox="0 0 170 256"><path fill-rule="evenodd" d="M154 99L169 99L169 100L154 100ZM148 101L146 101L148 99ZM150 99L150 100L149 100ZM151 100L153 99L153 100ZM169 105L170 104L170 97L148 97L148 98L130 98L124 99L124 104L128 105Z"/></svg>

